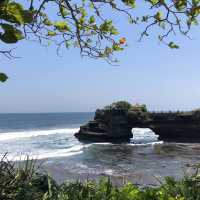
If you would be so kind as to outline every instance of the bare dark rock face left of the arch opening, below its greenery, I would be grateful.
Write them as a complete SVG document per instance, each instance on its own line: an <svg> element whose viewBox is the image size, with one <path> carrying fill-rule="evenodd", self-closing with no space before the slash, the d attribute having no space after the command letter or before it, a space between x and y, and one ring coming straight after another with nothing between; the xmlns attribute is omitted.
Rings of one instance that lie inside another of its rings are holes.
<svg viewBox="0 0 200 200"><path fill-rule="evenodd" d="M81 126L75 136L86 140L129 140L132 137L131 128L125 113L97 110L94 120Z"/></svg>

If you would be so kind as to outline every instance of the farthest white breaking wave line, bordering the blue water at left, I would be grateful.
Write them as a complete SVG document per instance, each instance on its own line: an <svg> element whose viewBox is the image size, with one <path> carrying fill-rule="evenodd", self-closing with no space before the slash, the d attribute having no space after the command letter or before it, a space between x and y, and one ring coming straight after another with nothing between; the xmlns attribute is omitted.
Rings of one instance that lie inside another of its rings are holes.
<svg viewBox="0 0 200 200"><path fill-rule="evenodd" d="M66 129L52 129L52 130L34 130L34 131L20 131L20 132L7 132L0 133L0 141L13 140L37 136L47 136L53 134L74 134L79 131L79 128L66 128Z"/></svg>

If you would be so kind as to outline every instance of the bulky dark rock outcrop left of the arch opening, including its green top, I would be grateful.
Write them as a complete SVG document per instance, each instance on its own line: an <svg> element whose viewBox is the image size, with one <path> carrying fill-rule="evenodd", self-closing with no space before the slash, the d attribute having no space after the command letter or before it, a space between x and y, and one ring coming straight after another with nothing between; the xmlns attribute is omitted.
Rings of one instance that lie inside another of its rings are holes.
<svg viewBox="0 0 200 200"><path fill-rule="evenodd" d="M94 120L81 126L75 136L80 140L127 141L133 136L132 121L139 126L146 119L146 112L139 109L138 113L134 113L131 108L132 105L127 102L117 102L98 109Z"/></svg>

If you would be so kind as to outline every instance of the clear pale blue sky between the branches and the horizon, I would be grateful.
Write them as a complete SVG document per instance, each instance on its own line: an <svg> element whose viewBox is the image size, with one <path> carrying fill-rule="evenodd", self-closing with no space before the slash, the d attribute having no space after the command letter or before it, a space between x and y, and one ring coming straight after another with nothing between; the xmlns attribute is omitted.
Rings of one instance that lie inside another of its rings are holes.
<svg viewBox="0 0 200 200"><path fill-rule="evenodd" d="M138 42L134 26L119 22L128 47L118 55L120 65L81 58L78 50L45 48L21 42L20 59L1 60L0 71L10 79L0 85L0 112L94 111L117 100L144 103L150 110L189 110L200 107L200 34L189 40L177 36L181 48L159 44L153 31Z"/></svg>

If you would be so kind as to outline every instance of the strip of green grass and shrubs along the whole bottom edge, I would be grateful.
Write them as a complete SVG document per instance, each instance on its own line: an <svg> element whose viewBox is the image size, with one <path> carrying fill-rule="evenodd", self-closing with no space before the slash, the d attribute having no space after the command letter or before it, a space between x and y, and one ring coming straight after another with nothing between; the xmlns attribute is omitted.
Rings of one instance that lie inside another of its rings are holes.
<svg viewBox="0 0 200 200"><path fill-rule="evenodd" d="M58 185L38 173L31 160L20 168L1 160L0 200L200 200L200 174L197 168L180 181L166 177L157 188L140 189L131 183L115 187L109 179Z"/></svg>

